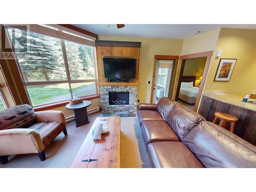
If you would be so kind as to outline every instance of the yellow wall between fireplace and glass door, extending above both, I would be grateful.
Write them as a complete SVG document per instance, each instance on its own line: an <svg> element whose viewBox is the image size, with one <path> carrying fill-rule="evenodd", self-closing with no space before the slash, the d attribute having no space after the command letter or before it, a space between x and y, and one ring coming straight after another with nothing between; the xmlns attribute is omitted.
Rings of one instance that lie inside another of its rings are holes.
<svg viewBox="0 0 256 192"><path fill-rule="evenodd" d="M99 36L100 40L123 40L140 41L140 67L138 99L140 102L150 102L153 65L155 55L180 55L182 39L146 38L146 37L121 37L121 36Z"/></svg>

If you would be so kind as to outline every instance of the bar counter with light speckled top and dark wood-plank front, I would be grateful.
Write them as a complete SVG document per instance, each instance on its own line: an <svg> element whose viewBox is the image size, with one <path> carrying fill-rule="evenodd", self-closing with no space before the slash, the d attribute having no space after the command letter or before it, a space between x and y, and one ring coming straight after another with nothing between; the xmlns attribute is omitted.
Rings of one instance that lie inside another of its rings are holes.
<svg viewBox="0 0 256 192"><path fill-rule="evenodd" d="M236 116L233 133L256 145L256 104L242 102L243 97L221 93L204 93L198 113L207 121L213 121L215 112ZM255 101L255 99L248 99ZM219 121L217 122L217 124ZM227 123L229 128L229 123Z"/></svg>

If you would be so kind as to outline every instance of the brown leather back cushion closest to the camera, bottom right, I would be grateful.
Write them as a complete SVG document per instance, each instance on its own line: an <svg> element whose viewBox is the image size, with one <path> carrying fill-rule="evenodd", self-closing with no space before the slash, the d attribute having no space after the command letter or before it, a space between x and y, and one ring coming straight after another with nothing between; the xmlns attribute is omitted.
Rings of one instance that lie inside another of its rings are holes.
<svg viewBox="0 0 256 192"><path fill-rule="evenodd" d="M183 142L205 167L256 167L256 147L217 124L200 122Z"/></svg>

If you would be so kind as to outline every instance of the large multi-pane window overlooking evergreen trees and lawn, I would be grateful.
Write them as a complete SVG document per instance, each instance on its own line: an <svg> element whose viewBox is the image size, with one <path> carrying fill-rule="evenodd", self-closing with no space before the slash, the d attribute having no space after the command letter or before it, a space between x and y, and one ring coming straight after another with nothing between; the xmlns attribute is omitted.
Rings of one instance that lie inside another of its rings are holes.
<svg viewBox="0 0 256 192"><path fill-rule="evenodd" d="M11 39L23 37L24 31L7 29ZM19 52L20 40L12 43ZM17 59L33 106L97 94L95 47L31 31L27 47L27 56Z"/></svg>

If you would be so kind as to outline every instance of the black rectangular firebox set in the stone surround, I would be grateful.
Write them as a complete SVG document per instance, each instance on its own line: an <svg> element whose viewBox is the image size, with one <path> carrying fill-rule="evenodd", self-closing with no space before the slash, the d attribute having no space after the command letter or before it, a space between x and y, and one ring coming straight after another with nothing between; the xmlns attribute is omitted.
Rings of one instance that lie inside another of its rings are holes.
<svg viewBox="0 0 256 192"><path fill-rule="evenodd" d="M129 92L109 92L110 105L129 105Z"/></svg>

